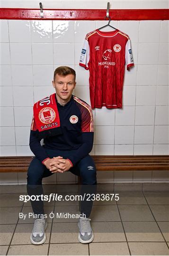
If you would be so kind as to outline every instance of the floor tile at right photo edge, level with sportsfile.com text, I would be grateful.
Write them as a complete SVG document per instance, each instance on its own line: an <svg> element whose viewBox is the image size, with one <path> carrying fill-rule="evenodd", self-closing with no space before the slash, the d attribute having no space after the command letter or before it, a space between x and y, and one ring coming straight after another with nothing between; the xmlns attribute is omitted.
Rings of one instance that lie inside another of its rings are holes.
<svg viewBox="0 0 169 256"><path fill-rule="evenodd" d="M169 204L169 191L144 192L148 204Z"/></svg>

